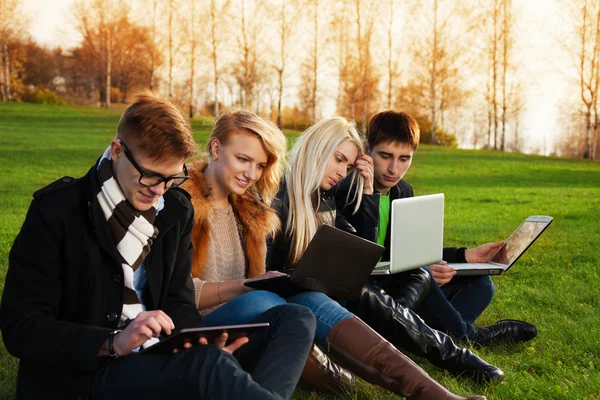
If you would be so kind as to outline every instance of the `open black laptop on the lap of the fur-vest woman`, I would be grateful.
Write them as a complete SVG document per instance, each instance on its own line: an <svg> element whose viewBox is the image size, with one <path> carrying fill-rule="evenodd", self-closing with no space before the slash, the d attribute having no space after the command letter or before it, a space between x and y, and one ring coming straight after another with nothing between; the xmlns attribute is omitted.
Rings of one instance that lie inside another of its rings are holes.
<svg viewBox="0 0 600 400"><path fill-rule="evenodd" d="M291 275L245 283L289 297L307 290L338 300L351 300L360 290L384 247L329 225L321 225Z"/></svg>

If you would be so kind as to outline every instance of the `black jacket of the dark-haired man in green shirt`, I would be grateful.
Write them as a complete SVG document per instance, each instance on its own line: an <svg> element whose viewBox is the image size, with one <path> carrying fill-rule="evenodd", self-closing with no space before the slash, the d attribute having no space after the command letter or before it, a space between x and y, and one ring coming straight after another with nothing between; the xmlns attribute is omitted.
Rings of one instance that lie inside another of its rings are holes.
<svg viewBox="0 0 600 400"><path fill-rule="evenodd" d="M335 201L338 204L338 209L342 211L344 217L356 228L358 234L361 234L361 225L360 223L356 224L353 217L351 216L352 210L354 209L354 204L352 202L347 202L346 198L348 196L348 191L350 188L350 180L348 178L341 181L335 190ZM396 199L404 199L408 197L414 197L414 191L412 186L405 180L400 180L395 186L390 188L390 203ZM377 242L377 230L379 229L379 193L375 193L373 196L373 200L370 202L364 202L364 207L374 207L374 209L369 210L370 214L375 214L377 218L377 227L375 228L375 242ZM346 204L347 203L347 204ZM362 207L362 206L361 206ZM367 212L367 211L365 211ZM392 237L392 224L388 224L387 232L385 235L385 251L381 256L382 261L390 260L390 239ZM369 229L369 235L372 235L372 230ZM443 260L448 262L467 262L465 259L465 248L456 248L456 247L446 247L443 250Z"/></svg>

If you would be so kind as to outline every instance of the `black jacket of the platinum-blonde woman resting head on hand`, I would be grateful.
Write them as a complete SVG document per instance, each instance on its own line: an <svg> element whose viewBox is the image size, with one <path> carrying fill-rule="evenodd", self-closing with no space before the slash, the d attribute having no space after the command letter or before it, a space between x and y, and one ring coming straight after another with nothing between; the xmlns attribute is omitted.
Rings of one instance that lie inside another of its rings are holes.
<svg viewBox="0 0 600 400"><path fill-rule="evenodd" d="M379 224L379 196L363 195L361 206L356 214L349 213L352 218L352 222L350 222L346 219L345 214L337 209L334 190L335 187L332 190L321 192L321 200L317 212L333 213L336 228L376 242L377 225ZM291 237L285 232L289 206L290 201L287 195L287 185L285 180L282 180L279 185L279 192L271 204L271 207L275 209L279 216L281 229L277 236L267 243L267 271L281 271L289 267L287 261L290 252Z"/></svg>

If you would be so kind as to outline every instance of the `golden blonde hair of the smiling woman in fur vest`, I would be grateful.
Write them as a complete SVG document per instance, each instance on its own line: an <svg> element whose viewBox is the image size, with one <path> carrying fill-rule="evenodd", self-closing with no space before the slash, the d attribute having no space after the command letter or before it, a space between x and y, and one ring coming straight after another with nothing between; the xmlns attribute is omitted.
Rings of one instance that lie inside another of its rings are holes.
<svg viewBox="0 0 600 400"><path fill-rule="evenodd" d="M263 201L267 205L271 205L283 174L286 151L285 135L274 123L264 120L252 111L240 108L229 109L219 115L215 128L208 138L206 149L209 154L213 141L218 140L222 145L226 145L236 130L255 134L267 152L267 165L255 185Z"/></svg>

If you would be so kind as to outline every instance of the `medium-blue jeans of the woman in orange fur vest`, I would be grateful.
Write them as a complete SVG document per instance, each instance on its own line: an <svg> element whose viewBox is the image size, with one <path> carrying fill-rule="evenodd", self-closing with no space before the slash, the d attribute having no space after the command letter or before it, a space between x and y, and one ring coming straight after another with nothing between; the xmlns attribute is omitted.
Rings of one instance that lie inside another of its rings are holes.
<svg viewBox="0 0 600 400"><path fill-rule="evenodd" d="M303 292L282 299L278 295L264 290L254 290L245 293L225 303L216 310L204 316L206 326L247 324L256 316L275 307L276 305L293 303L309 308L316 320L317 331L315 339L324 344L331 328L354 314L327 295L319 292Z"/></svg>

